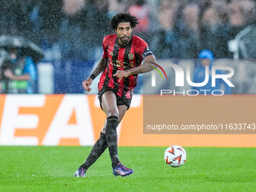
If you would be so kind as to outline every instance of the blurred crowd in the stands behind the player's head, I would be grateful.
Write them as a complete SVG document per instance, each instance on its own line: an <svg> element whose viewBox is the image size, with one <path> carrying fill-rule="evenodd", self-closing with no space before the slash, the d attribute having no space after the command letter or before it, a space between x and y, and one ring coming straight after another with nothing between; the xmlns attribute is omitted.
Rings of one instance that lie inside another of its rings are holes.
<svg viewBox="0 0 256 192"><path fill-rule="evenodd" d="M0 0L0 35L23 35L50 50L49 59L93 60L113 33L114 14L139 18L134 35L160 59L197 58L212 50L232 58L227 42L256 18L254 0Z"/></svg>

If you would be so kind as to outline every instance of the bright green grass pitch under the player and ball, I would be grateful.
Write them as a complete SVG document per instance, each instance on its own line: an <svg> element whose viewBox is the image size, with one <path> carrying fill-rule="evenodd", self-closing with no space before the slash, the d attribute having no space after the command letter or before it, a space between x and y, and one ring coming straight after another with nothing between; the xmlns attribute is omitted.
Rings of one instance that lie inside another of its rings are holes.
<svg viewBox="0 0 256 192"><path fill-rule="evenodd" d="M256 148L190 148L178 168L163 160L166 147L119 147L133 175L112 175L108 150L73 175L91 147L0 146L0 191L256 191Z"/></svg>

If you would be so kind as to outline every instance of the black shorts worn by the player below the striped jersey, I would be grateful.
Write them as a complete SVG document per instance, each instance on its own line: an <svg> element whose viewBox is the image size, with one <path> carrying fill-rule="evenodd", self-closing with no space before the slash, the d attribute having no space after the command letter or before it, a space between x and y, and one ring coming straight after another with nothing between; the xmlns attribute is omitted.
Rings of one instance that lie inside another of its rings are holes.
<svg viewBox="0 0 256 192"><path fill-rule="evenodd" d="M99 99L100 108L102 108L102 95L103 95L103 93L105 93L107 91L111 91L115 94L115 96L117 96L117 106L126 105L127 110L130 108L132 98L126 98L124 96L118 96L116 91L114 91L114 89L112 89L111 87L102 87L102 89L99 91L98 99Z"/></svg>

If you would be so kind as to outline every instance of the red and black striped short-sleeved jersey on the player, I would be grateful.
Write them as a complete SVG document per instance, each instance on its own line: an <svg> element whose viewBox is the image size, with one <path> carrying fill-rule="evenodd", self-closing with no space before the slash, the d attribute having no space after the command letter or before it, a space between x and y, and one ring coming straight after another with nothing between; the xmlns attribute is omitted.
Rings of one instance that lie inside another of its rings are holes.
<svg viewBox="0 0 256 192"><path fill-rule="evenodd" d="M108 65L100 77L99 91L103 87L111 87L118 96L131 98L138 75L130 75L121 81L113 75L117 70L129 70L140 66L145 56L153 54L148 49L148 44L142 38L132 35L130 42L125 47L121 47L116 34L107 35L103 40L103 51L102 57L108 59Z"/></svg>

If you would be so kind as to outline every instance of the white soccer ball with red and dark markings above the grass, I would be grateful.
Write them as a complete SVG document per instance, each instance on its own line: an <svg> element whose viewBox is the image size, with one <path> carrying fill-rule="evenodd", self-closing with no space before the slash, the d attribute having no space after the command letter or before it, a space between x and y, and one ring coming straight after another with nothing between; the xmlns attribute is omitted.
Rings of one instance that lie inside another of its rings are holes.
<svg viewBox="0 0 256 192"><path fill-rule="evenodd" d="M169 166L182 166L187 159L184 148L178 145L172 145L164 152L164 160Z"/></svg>

